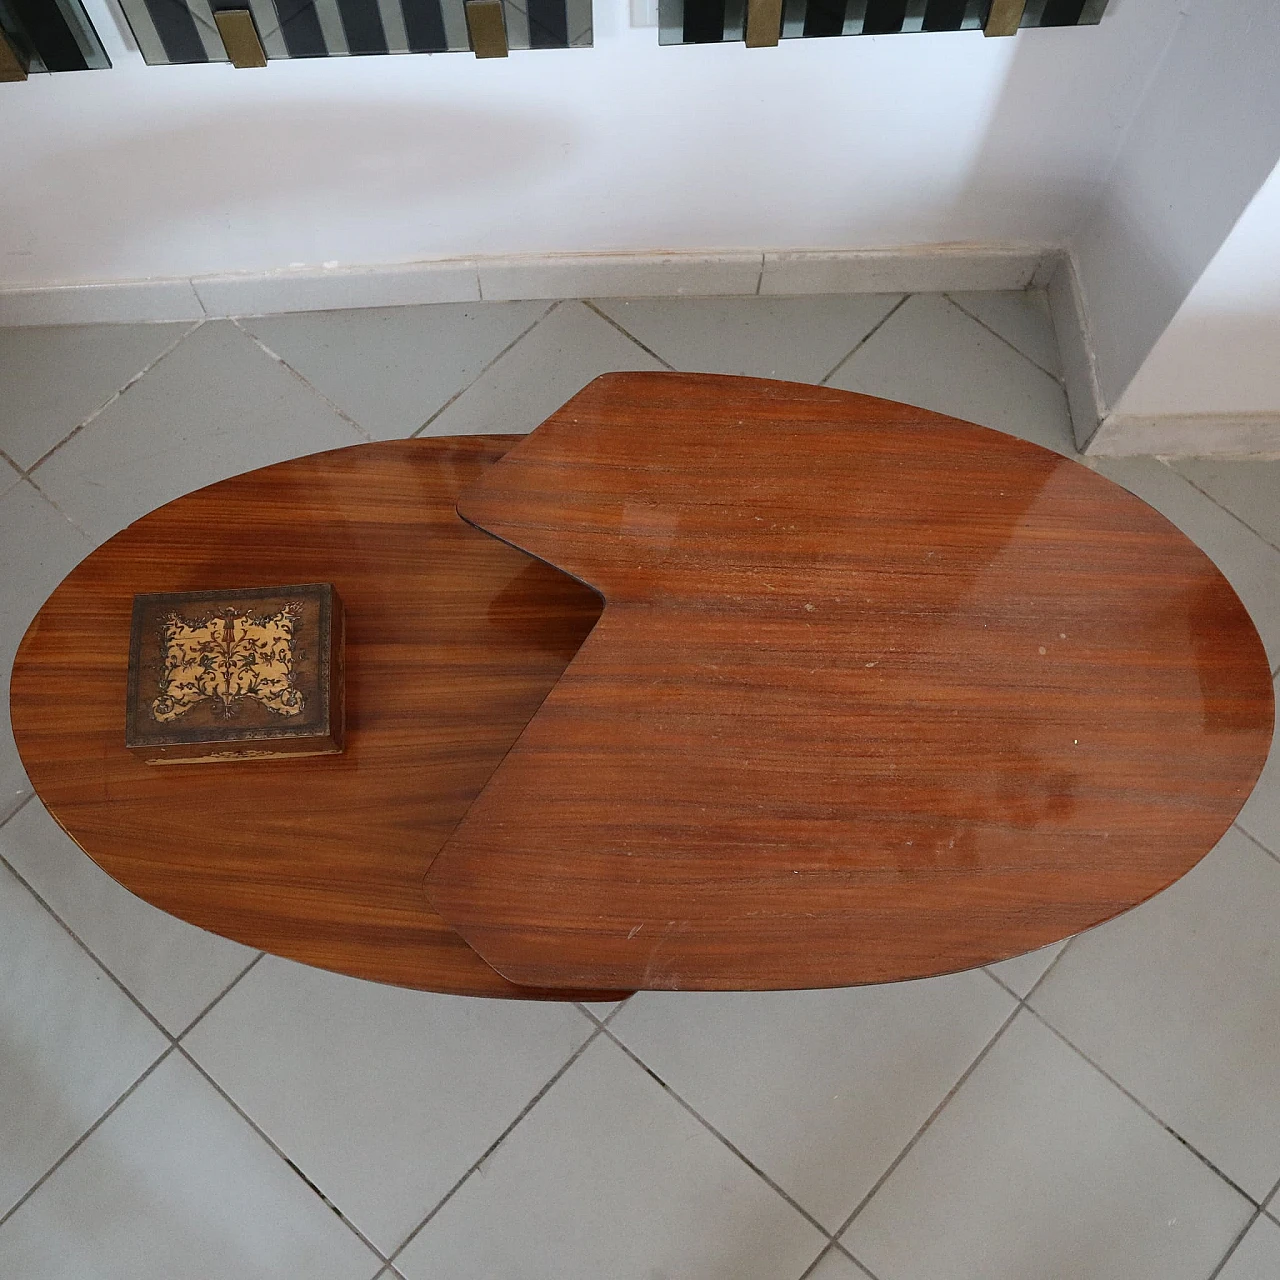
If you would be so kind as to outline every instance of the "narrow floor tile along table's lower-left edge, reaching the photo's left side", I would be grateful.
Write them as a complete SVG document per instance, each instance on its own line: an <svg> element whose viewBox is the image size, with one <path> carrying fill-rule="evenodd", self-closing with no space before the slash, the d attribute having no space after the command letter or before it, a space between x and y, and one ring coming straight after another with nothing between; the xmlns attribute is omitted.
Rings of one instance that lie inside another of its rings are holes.
<svg viewBox="0 0 1280 1280"><path fill-rule="evenodd" d="M256 955L134 897L38 800L0 827L0 854L175 1036Z"/></svg>

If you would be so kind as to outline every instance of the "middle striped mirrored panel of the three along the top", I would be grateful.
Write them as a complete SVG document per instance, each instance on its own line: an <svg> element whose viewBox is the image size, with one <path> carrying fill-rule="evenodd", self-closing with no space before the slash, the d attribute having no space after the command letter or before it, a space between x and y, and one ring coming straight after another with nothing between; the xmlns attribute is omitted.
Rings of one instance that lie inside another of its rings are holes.
<svg viewBox="0 0 1280 1280"><path fill-rule="evenodd" d="M268 59L468 50L463 0L120 0L151 64L225 63L214 14L250 9ZM591 0L503 0L508 49L591 44Z"/></svg>

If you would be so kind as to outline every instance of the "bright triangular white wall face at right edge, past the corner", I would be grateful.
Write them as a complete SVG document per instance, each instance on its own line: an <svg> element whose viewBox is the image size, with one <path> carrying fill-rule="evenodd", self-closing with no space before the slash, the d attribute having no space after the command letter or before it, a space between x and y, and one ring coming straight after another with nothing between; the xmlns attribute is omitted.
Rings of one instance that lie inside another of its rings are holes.
<svg viewBox="0 0 1280 1280"><path fill-rule="evenodd" d="M1280 415L1280 166L1213 255L1116 412Z"/></svg>

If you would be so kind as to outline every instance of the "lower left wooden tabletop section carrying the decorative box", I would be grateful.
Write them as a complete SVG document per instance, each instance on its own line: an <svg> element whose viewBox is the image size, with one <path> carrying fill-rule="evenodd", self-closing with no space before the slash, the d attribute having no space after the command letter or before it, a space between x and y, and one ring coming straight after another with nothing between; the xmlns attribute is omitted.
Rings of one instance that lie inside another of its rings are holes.
<svg viewBox="0 0 1280 1280"><path fill-rule="evenodd" d="M358 445L215 484L143 517L58 588L14 667L31 781L105 870L252 947L379 982L512 986L422 877L600 604L457 518L512 438ZM124 746L136 591L333 582L347 607L347 745L301 760L143 764Z"/></svg>

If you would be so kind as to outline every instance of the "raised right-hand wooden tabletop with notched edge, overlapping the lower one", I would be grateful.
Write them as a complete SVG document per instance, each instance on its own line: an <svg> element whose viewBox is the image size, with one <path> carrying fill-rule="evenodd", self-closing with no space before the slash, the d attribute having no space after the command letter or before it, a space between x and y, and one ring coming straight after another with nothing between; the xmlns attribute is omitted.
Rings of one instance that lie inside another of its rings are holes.
<svg viewBox="0 0 1280 1280"><path fill-rule="evenodd" d="M460 512L607 602L428 877L515 982L1001 960L1187 872L1267 754L1267 662L1207 557L972 424L609 375Z"/></svg>

